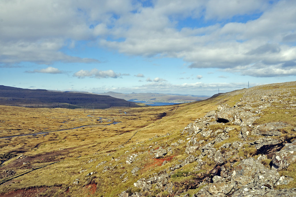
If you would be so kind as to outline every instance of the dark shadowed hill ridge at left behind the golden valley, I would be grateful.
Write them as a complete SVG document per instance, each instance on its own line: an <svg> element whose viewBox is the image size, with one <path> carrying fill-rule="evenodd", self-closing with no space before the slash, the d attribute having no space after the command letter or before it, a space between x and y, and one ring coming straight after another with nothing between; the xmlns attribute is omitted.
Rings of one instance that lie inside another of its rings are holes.
<svg viewBox="0 0 296 197"><path fill-rule="evenodd" d="M141 103L107 95L49 90L32 90L0 85L0 105L47 108L143 107Z"/></svg>

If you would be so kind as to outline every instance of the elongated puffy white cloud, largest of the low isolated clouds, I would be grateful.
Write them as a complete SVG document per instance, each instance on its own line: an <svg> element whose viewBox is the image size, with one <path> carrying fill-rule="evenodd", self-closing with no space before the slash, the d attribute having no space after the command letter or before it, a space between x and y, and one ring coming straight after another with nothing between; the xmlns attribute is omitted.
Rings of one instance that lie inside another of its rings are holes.
<svg viewBox="0 0 296 197"><path fill-rule="evenodd" d="M94 78L117 78L120 77L121 74L116 74L113 70L106 70L106 71L102 71L102 70L98 70L98 69L91 69L90 71L88 70L80 70L78 72L75 72L73 74L74 77L78 77L78 78L84 78L84 77L94 77Z"/></svg>

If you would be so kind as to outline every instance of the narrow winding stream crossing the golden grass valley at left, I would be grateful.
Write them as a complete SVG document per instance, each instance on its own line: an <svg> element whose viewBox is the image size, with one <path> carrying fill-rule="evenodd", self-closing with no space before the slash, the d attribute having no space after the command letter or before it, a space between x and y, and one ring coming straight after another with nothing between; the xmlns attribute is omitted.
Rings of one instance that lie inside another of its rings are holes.
<svg viewBox="0 0 296 197"><path fill-rule="evenodd" d="M91 116L91 115L87 115L88 117L94 117L94 116ZM107 121L106 122L111 122L110 119L107 119L107 118L103 118L103 117L95 117L95 118L99 118L98 121L100 121L100 123L102 123L102 119L106 119ZM32 135L32 136L36 136L36 135L43 135L45 136L46 134L49 134L51 132L56 132L56 131L66 131L66 130L71 130L71 129L77 129L77 128L82 128L82 127L87 127L87 126L107 126L107 125L115 125L117 123L122 123L122 122L112 122L112 123L109 123L109 124L106 124L106 125L82 125L82 126L78 126L78 127L74 127L74 128L66 128L66 129L60 129L60 130L49 130L49 131L40 131L38 133L30 133L30 134L20 134L20 135L12 135L12 136L4 136L4 137L0 137L0 139L6 139L6 138L13 138L13 137L18 137L18 136L29 136L29 135Z"/></svg>

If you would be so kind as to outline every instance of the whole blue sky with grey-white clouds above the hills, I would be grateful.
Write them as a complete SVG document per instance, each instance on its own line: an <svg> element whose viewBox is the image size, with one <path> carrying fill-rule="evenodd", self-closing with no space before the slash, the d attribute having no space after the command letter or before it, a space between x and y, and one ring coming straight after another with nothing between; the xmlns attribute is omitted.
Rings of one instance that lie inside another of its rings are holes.
<svg viewBox="0 0 296 197"><path fill-rule="evenodd" d="M0 0L0 85L213 95L295 81L295 0Z"/></svg>

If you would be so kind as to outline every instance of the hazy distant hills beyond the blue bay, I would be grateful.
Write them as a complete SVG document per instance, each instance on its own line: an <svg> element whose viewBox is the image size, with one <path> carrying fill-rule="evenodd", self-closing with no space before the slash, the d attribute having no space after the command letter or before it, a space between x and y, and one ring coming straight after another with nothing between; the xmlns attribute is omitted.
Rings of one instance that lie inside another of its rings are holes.
<svg viewBox="0 0 296 197"><path fill-rule="evenodd" d="M197 95L182 95L182 94L162 94L162 93L116 93L116 92L105 92L97 93L99 95L108 95L119 99L134 100L134 101L153 101L153 102L192 102L200 101L210 96L197 96Z"/></svg>

